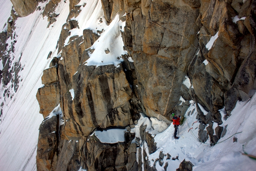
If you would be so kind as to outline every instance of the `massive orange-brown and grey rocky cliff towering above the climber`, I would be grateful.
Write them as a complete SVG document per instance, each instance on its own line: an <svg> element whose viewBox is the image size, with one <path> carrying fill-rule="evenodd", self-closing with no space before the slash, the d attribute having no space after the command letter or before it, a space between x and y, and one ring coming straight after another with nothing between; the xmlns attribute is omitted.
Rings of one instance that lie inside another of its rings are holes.
<svg viewBox="0 0 256 171"><path fill-rule="evenodd" d="M19 16L30 14L37 6L36 0L12 2ZM58 17L51 12L58 2L49 1L44 9L48 26ZM58 58L53 58L51 68L44 71L44 87L36 95L44 118L60 104L65 121L59 126L56 116L40 126L38 171L80 167L88 171L135 171L142 170L142 164L144 170L156 170L156 161L151 167L146 160L145 145L154 153L156 144L145 125L140 126L140 138L129 132L138 123L139 113L169 124L171 113L184 115L188 100L194 100L200 122L198 138L203 143L209 138L214 145L223 135L223 127L212 128L214 122L222 124L219 110L225 106L228 118L238 99L246 101L254 94L255 1L101 0L108 24L116 13L126 21L121 29L127 54L117 56L123 59L118 67L84 65L104 30L96 34L85 29L82 36L70 36L80 27L72 18L86 6L78 2L70 0L70 14L56 47ZM234 21L235 16L245 19ZM102 22L102 18L98 20ZM0 35L1 52L11 30ZM111 53L108 48L104 51ZM8 67L7 58L2 59L3 66ZM3 76L8 75L4 71ZM6 77L3 82L7 85L10 80ZM95 130L111 128L126 128L125 141L102 143L92 135ZM158 162L164 165L162 154ZM164 166L167 169L168 165ZM183 161L177 170L192 170L192 166Z"/></svg>

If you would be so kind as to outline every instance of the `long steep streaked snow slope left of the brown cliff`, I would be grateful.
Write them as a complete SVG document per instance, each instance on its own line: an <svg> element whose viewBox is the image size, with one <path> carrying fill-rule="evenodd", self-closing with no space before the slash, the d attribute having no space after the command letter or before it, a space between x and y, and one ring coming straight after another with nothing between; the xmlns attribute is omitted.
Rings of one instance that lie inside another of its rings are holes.
<svg viewBox="0 0 256 171"><path fill-rule="evenodd" d="M10 6L9 0L1 0L0 3ZM44 7L46 3L39 3L39 6ZM68 0L67 3L62 1L57 8L60 15L50 28L46 28L48 22L47 18L42 18L42 10L27 17L18 18L16 21L17 42L15 52L11 55L15 62L22 54L20 62L24 70L20 72L22 82L20 82L18 91L12 99L6 99L3 106L2 123L0 123L0 168L2 171L36 170L38 128L43 120L39 113L36 92L42 85L43 70L51 61L51 59L46 60L47 56L50 51L53 54L56 51L54 47L56 47L62 25L66 22L69 13ZM10 9L6 13L8 17ZM7 22L8 17L1 15L1 25L2 20ZM2 89L0 93L3 94ZM0 100L2 101L3 98Z"/></svg>

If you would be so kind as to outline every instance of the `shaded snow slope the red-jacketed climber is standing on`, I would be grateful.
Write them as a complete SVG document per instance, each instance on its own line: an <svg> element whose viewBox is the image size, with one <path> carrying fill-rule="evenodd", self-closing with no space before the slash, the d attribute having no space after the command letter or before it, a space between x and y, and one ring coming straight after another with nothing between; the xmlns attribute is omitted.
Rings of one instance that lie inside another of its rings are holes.
<svg viewBox="0 0 256 171"><path fill-rule="evenodd" d="M202 106L200 108L202 109ZM193 109L194 112L188 116L187 113L193 111ZM220 113L223 117L226 114L225 108L220 109ZM197 121L196 115L196 105L195 103L190 103L190 107L185 114L185 123L179 127L178 137L180 139L174 139L174 127L172 124L165 131L158 133L154 137L158 149L148 156L151 167L159 157L160 151L163 151L164 154L169 153L172 157L179 157L179 160L168 160L164 157L164 165L168 162L167 171L176 171L180 162L184 159L192 162L194 165L193 171L255 170L256 162L242 155L242 145L244 145L246 153L256 155L256 94L250 101L238 101L230 117L226 121L222 119L223 123L220 126L228 125L226 135L220 138L218 143L212 147L209 139L206 143L198 141L198 126L200 123L195 122ZM214 123L213 129L217 126L218 124ZM192 129L188 132L190 128ZM239 133L240 131L242 133ZM234 133L237 134L233 135ZM229 138L230 136L231 138ZM233 143L232 137L238 138L238 142ZM142 145L141 147L144 146ZM156 169L162 171L164 170L164 165L161 167L157 162Z"/></svg>

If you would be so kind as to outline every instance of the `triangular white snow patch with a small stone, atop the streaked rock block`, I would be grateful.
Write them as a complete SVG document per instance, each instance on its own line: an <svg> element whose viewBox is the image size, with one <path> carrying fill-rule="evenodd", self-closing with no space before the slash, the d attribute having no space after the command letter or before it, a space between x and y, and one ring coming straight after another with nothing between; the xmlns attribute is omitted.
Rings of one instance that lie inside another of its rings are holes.
<svg viewBox="0 0 256 171"><path fill-rule="evenodd" d="M101 34L98 41L92 45L91 49L95 50L92 54L89 53L90 58L86 61L85 65L98 67L114 64L118 67L118 64L123 59L118 59L117 57L127 54L127 51L123 50L124 42L120 30L120 26L124 24L125 22L119 20L119 14L117 14L105 32ZM110 52L106 54L105 49L109 49Z"/></svg>

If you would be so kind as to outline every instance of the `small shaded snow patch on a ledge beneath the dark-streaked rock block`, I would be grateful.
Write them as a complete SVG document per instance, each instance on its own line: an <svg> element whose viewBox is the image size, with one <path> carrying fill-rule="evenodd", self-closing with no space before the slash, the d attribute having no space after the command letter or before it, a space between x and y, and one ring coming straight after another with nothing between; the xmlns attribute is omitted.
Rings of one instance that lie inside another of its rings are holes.
<svg viewBox="0 0 256 171"><path fill-rule="evenodd" d="M108 129L107 131L95 131L94 135L100 140L102 143L118 143L124 142L124 133L126 129Z"/></svg>

